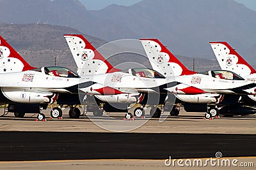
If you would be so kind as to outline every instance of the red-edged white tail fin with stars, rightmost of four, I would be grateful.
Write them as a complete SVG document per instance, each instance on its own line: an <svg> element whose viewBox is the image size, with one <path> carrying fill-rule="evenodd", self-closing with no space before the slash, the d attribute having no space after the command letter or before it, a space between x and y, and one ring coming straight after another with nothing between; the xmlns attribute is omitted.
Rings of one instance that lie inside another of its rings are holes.
<svg viewBox="0 0 256 170"><path fill-rule="evenodd" d="M233 71L240 76L248 76L256 73L256 70L246 62L230 45L225 41L210 42L212 51L216 56L221 69Z"/></svg>

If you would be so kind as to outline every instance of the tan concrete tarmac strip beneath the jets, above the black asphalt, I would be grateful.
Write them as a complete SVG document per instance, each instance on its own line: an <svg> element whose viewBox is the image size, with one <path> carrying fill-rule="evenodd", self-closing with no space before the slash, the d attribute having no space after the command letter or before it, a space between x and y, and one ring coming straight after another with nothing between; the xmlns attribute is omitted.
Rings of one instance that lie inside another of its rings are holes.
<svg viewBox="0 0 256 170"><path fill-rule="evenodd" d="M50 117L50 111L44 111ZM90 117L92 113L88 113ZM180 111L178 117L135 118L123 120L124 113L108 113L103 117L69 118L68 110L63 119L49 119L36 122L36 115L27 114L17 118L13 113L0 117L0 131L40 131L40 132L140 132L140 133L193 133L193 134L256 134L256 117L221 117L204 120L204 113Z"/></svg>

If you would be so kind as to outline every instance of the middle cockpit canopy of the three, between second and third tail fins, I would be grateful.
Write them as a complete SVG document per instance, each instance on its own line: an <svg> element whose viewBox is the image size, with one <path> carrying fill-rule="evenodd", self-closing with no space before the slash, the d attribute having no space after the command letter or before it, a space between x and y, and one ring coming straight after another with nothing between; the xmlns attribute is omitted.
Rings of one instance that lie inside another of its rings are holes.
<svg viewBox="0 0 256 170"><path fill-rule="evenodd" d="M148 68L135 68L122 71L124 73L130 73L132 76L146 77L146 78L165 78L162 74Z"/></svg>

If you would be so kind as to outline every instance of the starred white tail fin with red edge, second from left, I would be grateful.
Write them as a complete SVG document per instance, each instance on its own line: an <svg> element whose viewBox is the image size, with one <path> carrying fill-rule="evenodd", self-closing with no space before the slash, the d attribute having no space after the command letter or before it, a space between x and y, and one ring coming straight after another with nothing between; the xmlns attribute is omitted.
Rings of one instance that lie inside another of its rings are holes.
<svg viewBox="0 0 256 170"><path fill-rule="evenodd" d="M104 74L118 71L81 34L64 35L74 60L78 74Z"/></svg>

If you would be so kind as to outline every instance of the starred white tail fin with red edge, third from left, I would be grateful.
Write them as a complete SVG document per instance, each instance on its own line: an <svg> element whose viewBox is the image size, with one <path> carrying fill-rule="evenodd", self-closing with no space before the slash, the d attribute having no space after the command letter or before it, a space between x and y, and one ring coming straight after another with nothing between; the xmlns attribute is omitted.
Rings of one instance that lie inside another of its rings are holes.
<svg viewBox="0 0 256 170"><path fill-rule="evenodd" d="M184 66L158 39L140 39L153 69L164 76L195 74Z"/></svg>

